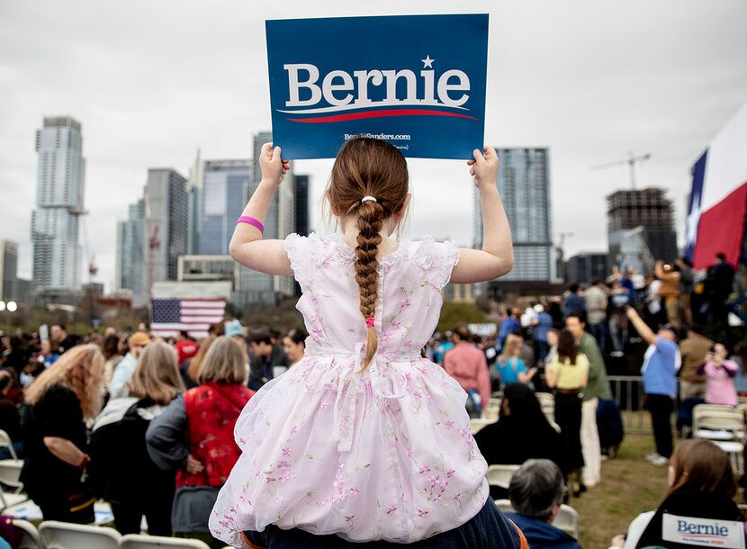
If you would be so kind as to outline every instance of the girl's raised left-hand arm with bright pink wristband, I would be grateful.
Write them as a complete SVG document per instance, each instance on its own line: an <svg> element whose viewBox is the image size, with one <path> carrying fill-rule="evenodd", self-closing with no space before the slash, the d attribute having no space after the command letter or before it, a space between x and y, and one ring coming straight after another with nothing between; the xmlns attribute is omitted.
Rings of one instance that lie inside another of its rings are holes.
<svg viewBox="0 0 747 549"><path fill-rule="evenodd" d="M287 160L280 157L280 147L265 143L259 154L262 181L247 203L241 215L265 223L267 210L275 197L277 186L289 169ZM285 251L283 240L263 240L262 231L249 223L238 223L229 245L230 256L243 266L266 275L293 276L291 261Z"/></svg>

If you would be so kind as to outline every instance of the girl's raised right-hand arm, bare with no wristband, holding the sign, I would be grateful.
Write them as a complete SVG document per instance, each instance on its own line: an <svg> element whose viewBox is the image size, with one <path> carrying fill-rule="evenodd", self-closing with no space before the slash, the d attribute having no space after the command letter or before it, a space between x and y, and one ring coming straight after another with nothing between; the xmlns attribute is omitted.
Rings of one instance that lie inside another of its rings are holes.
<svg viewBox="0 0 747 549"><path fill-rule="evenodd" d="M482 211L482 250L463 247L459 250L459 263L451 274L451 282L470 284L485 282L506 275L514 266L514 248L511 229L503 202L500 201L496 175L498 155L495 148L486 147L484 155L478 149L474 160L467 162L474 185L480 193Z"/></svg>

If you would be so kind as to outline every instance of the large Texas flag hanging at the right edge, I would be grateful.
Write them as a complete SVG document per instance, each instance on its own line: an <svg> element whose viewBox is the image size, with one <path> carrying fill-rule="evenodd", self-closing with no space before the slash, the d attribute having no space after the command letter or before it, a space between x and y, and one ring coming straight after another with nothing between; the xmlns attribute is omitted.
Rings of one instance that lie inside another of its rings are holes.
<svg viewBox="0 0 747 549"><path fill-rule="evenodd" d="M747 103L692 167L685 255L696 269L739 265L747 213Z"/></svg>

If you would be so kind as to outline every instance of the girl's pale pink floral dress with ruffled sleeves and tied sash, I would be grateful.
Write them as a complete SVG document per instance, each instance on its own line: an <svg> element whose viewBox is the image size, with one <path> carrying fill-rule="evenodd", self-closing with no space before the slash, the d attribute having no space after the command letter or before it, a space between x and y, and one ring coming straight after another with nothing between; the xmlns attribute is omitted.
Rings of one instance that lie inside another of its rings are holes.
<svg viewBox="0 0 747 549"><path fill-rule="evenodd" d="M213 536L238 547L240 532L275 524L410 543L463 525L488 498L487 464L466 393L420 356L459 249L403 239L380 260L379 348L359 373L365 321L354 250L316 234L293 234L285 248L303 292L306 355L239 416L243 454L212 509Z"/></svg>

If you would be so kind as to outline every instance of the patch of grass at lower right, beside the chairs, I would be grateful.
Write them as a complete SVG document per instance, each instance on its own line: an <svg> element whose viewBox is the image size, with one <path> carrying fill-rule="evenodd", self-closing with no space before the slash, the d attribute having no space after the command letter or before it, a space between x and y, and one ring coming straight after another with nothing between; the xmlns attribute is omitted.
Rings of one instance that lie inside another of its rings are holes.
<svg viewBox="0 0 747 549"><path fill-rule="evenodd" d="M607 549L639 513L662 501L667 467L644 460L653 450L653 435L626 435L617 457L602 462L602 481L569 501L581 518L581 547Z"/></svg>

